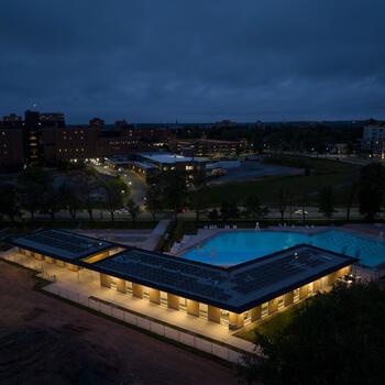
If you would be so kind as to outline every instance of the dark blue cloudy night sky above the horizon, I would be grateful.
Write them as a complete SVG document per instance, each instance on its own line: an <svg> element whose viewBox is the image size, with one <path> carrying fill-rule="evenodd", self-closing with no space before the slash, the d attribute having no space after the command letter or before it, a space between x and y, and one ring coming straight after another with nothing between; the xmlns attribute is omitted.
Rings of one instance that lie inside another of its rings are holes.
<svg viewBox="0 0 385 385"><path fill-rule="evenodd" d="M384 0L10 0L0 116L385 118Z"/></svg>

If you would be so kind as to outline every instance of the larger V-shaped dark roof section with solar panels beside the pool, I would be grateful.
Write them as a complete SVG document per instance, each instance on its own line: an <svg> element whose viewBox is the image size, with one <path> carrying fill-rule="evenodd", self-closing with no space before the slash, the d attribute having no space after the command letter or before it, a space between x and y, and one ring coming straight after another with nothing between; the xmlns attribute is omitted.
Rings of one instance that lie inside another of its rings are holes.
<svg viewBox="0 0 385 385"><path fill-rule="evenodd" d="M230 268L140 249L94 264L99 272L242 312L348 266L356 258L298 245Z"/></svg>

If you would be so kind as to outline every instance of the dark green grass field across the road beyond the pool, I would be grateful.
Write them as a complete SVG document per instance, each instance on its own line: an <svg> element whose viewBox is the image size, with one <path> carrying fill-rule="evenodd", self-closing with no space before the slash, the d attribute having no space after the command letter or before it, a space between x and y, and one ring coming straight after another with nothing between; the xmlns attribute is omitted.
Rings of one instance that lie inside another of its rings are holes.
<svg viewBox="0 0 385 385"><path fill-rule="evenodd" d="M341 184L356 177L360 166L341 162L317 160L302 156L279 156L265 160L265 163L278 164L282 166L309 167L310 175L294 175L285 177L267 177L257 182L232 182L210 186L210 206L220 206L226 199L242 204L249 196L258 196L263 204L274 204L278 200L278 189L285 187L293 198L319 191L326 186L337 186L337 205L344 204L344 194ZM341 189L341 190L340 190ZM316 204L317 196L307 197L308 205Z"/></svg>

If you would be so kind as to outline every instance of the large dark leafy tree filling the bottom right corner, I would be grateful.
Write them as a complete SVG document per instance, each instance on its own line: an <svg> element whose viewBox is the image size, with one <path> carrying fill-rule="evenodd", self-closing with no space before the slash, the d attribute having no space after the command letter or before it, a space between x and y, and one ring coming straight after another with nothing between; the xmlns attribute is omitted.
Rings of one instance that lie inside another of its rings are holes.
<svg viewBox="0 0 385 385"><path fill-rule="evenodd" d="M244 356L240 374L249 384L383 384L384 324L385 292L377 284L336 285L299 305L279 328L256 328L258 354Z"/></svg>

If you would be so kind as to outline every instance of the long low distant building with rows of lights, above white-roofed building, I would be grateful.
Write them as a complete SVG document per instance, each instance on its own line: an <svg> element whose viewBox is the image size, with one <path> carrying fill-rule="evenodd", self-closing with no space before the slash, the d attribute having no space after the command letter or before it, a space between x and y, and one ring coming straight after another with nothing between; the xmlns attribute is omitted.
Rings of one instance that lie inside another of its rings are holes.
<svg viewBox="0 0 385 385"><path fill-rule="evenodd" d="M240 141L220 141L207 139L206 135L202 135L201 139L172 139L167 144L170 151L189 154L190 156L193 152L195 156L232 156L248 147L245 139Z"/></svg>

